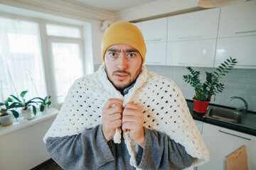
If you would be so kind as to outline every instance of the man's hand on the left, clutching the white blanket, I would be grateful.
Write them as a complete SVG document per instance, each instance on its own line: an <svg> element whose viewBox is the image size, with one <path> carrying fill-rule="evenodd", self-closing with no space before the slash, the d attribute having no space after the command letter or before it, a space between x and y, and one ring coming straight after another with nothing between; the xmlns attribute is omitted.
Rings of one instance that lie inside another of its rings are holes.
<svg viewBox="0 0 256 170"><path fill-rule="evenodd" d="M122 125L122 103L117 98L110 98L102 108L102 132L107 142L114 137L115 129Z"/></svg>

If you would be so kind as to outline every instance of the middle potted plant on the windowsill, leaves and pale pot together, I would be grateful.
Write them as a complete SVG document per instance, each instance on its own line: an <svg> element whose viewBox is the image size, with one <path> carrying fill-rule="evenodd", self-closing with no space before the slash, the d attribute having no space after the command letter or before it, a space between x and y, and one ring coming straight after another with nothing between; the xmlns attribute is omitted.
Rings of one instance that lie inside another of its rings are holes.
<svg viewBox="0 0 256 170"><path fill-rule="evenodd" d="M11 95L11 97L13 97L16 100L11 105L14 105L16 108L22 108L21 113L23 115L23 118L29 120L32 118L32 115L31 115L32 111L33 111L33 114L36 115L36 106L34 106L33 103L37 104L37 102L34 101L36 98L31 98L30 100L26 101L24 96L26 95L27 92L28 91L21 92L20 96L22 100L20 100L18 97L14 95Z"/></svg>

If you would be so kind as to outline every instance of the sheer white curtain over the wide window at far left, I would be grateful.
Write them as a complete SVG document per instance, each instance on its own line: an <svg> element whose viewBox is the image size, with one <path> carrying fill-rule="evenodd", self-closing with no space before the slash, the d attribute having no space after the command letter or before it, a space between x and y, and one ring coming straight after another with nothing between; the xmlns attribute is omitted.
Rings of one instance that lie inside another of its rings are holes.
<svg viewBox="0 0 256 170"><path fill-rule="evenodd" d="M38 23L0 17L0 101L46 96L39 35Z"/></svg>

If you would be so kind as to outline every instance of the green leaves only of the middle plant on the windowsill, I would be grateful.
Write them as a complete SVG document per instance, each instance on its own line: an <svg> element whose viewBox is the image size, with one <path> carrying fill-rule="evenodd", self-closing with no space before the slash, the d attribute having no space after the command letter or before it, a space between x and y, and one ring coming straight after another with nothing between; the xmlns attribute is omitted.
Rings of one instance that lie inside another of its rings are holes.
<svg viewBox="0 0 256 170"><path fill-rule="evenodd" d="M34 106L33 103L37 104L37 102L34 101L37 98L31 98L30 100L26 101L24 96L26 95L27 92L28 91L21 92L21 94L20 94L21 100L17 96L11 95L11 97L13 97L16 100L11 104L11 107L23 108L23 110L27 110L28 107L32 107L33 113L34 113L34 115L36 115L36 106Z"/></svg>

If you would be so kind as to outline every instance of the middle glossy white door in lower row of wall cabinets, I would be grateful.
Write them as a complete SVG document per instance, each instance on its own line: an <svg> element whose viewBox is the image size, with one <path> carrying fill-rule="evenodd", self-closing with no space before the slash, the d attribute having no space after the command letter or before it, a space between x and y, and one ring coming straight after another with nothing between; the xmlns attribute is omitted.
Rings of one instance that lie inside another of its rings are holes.
<svg viewBox="0 0 256 170"><path fill-rule="evenodd" d="M213 67L216 40L167 42L166 65Z"/></svg>

